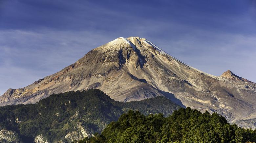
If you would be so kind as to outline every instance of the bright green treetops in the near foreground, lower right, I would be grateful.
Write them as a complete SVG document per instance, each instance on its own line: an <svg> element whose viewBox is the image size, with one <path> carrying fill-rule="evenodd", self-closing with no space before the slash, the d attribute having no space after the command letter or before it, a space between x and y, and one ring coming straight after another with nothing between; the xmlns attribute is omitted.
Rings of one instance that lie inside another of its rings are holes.
<svg viewBox="0 0 256 143"><path fill-rule="evenodd" d="M118 121L107 125L102 134L95 134L73 143L245 143L256 142L256 130L229 124L217 112L201 113L180 108L171 116L144 116L128 111Z"/></svg>

